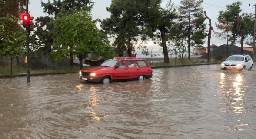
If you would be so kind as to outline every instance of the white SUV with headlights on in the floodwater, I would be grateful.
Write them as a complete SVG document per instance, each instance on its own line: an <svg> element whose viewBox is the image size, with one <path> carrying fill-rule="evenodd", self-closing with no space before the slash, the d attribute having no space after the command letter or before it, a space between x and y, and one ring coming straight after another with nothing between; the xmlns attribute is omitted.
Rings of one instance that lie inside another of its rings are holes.
<svg viewBox="0 0 256 139"><path fill-rule="evenodd" d="M253 60L248 54L235 54L229 56L220 66L221 70L239 69L249 70L253 68Z"/></svg>

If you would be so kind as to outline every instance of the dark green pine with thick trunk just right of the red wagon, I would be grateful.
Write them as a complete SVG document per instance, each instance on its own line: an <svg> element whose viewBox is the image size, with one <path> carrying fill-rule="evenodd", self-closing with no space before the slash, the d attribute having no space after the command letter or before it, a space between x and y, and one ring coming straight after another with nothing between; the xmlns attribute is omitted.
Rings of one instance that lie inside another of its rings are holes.
<svg viewBox="0 0 256 139"><path fill-rule="evenodd" d="M161 7L162 0L145 0L144 7L141 8L142 19L146 28L144 32L154 40L160 40L160 45L163 47L164 62L169 63L169 55L166 34L172 32L171 27L174 24L174 19L177 18L176 7L168 1L166 8ZM159 32L157 32L159 31Z"/></svg>

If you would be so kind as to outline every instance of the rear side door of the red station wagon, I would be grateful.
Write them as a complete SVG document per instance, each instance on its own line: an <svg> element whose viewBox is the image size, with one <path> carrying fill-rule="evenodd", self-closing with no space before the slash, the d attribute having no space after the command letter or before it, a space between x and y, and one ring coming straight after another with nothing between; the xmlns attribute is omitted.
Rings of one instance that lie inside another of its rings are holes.
<svg viewBox="0 0 256 139"><path fill-rule="evenodd" d="M139 76L139 66L137 65L135 60L127 60L129 77L128 79L135 79Z"/></svg>

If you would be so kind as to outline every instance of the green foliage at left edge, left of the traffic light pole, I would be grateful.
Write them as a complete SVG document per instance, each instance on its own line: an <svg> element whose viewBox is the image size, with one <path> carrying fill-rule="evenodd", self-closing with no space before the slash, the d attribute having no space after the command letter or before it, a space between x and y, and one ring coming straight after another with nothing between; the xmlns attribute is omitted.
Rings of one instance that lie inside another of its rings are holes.
<svg viewBox="0 0 256 139"><path fill-rule="evenodd" d="M17 18L0 17L0 58L19 56L24 51L25 34Z"/></svg>

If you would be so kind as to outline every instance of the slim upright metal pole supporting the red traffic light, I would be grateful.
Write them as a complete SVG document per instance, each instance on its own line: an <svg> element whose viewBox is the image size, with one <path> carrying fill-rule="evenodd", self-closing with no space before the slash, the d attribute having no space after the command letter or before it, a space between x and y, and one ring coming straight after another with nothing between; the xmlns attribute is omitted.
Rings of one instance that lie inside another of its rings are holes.
<svg viewBox="0 0 256 139"><path fill-rule="evenodd" d="M28 0L27 0L27 14L28 14ZM29 49L29 28L27 30L27 83L30 83L30 49Z"/></svg>

